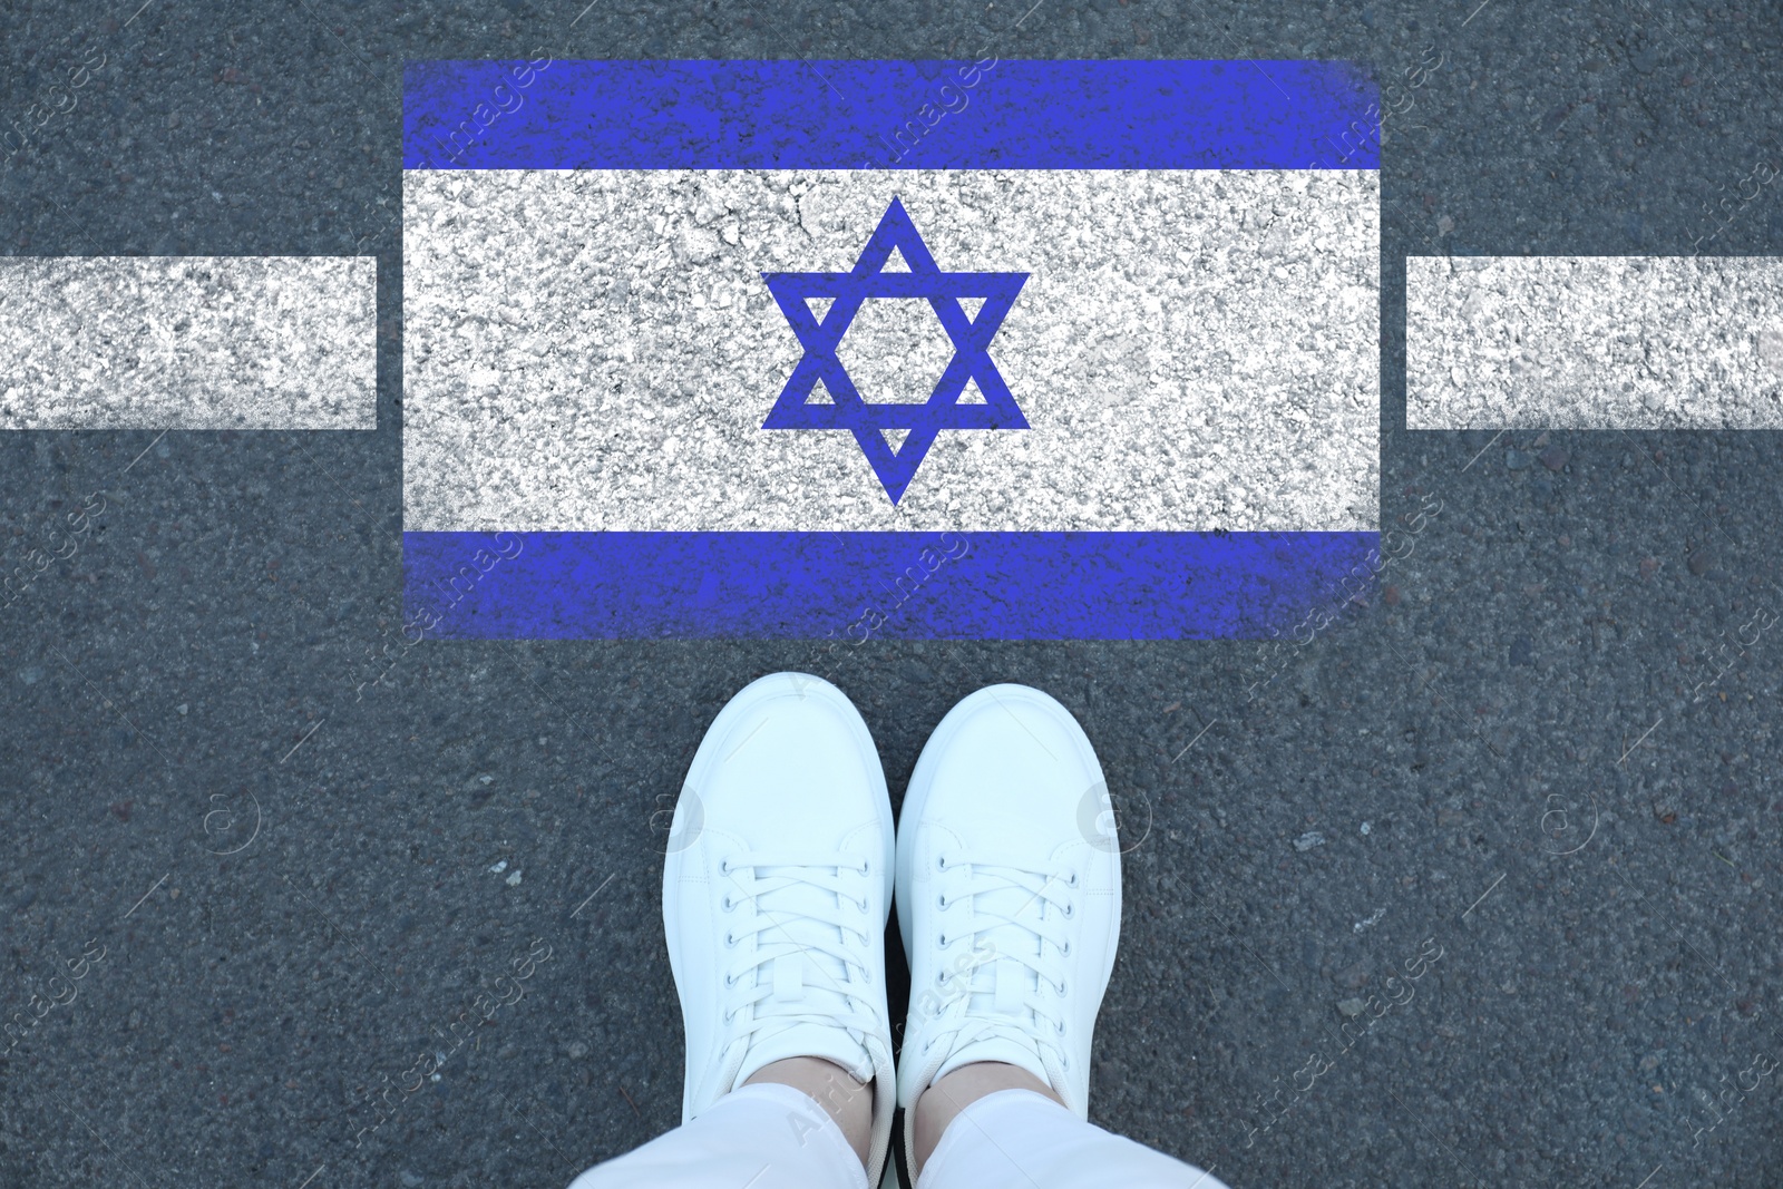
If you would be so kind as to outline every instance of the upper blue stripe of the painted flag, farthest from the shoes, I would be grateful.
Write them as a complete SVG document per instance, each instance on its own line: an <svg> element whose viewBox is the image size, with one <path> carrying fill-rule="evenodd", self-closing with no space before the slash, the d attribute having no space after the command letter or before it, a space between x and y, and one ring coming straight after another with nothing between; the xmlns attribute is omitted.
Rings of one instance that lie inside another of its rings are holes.
<svg viewBox="0 0 1783 1189"><path fill-rule="evenodd" d="M1348 62L408 62L408 169L1378 169Z"/></svg>

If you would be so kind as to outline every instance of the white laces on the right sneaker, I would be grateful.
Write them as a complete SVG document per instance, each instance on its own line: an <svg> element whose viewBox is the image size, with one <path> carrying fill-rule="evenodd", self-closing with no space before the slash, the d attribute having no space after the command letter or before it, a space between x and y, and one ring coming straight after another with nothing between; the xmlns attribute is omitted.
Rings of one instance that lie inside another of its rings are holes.
<svg viewBox="0 0 1783 1189"><path fill-rule="evenodd" d="M945 856L938 865L954 872L950 893L938 893L938 907L945 913L950 904L968 902L972 925L936 939L968 941L974 961L952 977L941 968L943 988L961 986L943 998L927 1046L945 1045L954 1054L974 1041L1000 1037L1032 1048L1048 1068L1070 1068L1059 1046L1064 1036L1059 1009L1068 991L1063 959L1072 943L1064 922L1075 914L1077 873L997 863L949 866ZM988 957L977 959L982 950Z"/></svg>

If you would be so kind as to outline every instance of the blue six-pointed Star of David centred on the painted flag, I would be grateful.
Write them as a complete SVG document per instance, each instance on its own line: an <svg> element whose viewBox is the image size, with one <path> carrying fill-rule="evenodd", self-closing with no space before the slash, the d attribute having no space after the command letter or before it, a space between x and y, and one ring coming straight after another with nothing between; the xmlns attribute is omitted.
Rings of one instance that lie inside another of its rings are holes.
<svg viewBox="0 0 1783 1189"><path fill-rule="evenodd" d="M883 271L893 248L902 253L908 273ZM990 357L991 339L1015 305L1027 273L943 273L897 198L886 207L852 271L763 273L761 280L768 283L768 292L804 348L804 358L793 367L761 428L849 430L893 504L904 496L941 430L1027 428L1022 408ZM822 321L811 312L808 298L833 298ZM927 298L941 319L954 342L954 358L925 403L868 405L836 358L842 335L868 298ZM984 298L977 317L966 317L959 307L961 298ZM833 403L809 403L818 380ZM982 405L959 403L966 381L977 381ZM892 449L886 430L909 433Z"/></svg>

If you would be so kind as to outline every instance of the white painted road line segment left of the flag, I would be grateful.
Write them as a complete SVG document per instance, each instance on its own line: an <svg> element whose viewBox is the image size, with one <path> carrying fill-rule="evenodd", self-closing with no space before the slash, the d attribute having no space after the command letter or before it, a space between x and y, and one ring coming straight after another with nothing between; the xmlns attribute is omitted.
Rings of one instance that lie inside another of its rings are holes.
<svg viewBox="0 0 1783 1189"><path fill-rule="evenodd" d="M0 258L0 430L373 430L373 257Z"/></svg>

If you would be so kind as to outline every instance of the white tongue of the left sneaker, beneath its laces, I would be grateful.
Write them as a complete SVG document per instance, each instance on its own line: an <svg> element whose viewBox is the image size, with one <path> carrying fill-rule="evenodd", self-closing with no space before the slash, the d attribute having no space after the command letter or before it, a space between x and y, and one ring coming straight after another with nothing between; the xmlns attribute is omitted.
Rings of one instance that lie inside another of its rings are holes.
<svg viewBox="0 0 1783 1189"><path fill-rule="evenodd" d="M761 866L756 877L772 882L797 868ZM756 1032L749 1052L738 1066L731 1089L742 1086L761 1066L788 1057L822 1057L849 1070L858 1080L874 1077L874 1057L845 1027L813 1023L817 1018L852 1014L843 988L850 988L849 970L842 959L822 952L818 945L836 948L842 929L802 914L822 897L826 907L836 904L833 891L809 884L792 884L756 897L760 923L758 943L774 950L776 957L756 966L745 980L751 988L772 988L756 1002ZM785 1016L785 1020L776 1020Z"/></svg>

